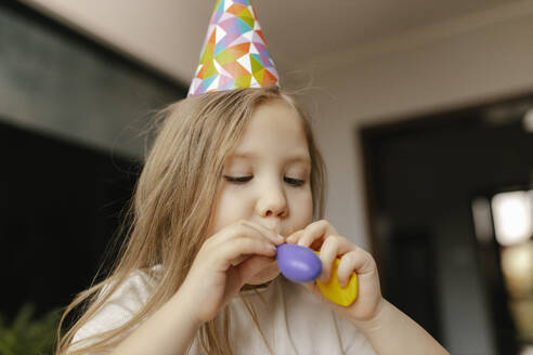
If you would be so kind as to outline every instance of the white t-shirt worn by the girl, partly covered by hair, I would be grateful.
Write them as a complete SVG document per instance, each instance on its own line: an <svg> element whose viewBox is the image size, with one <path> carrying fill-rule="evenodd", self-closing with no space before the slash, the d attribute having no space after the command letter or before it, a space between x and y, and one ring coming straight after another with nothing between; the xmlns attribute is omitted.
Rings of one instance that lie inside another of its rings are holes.
<svg viewBox="0 0 533 355"><path fill-rule="evenodd" d="M154 288L147 274L138 271L113 294L101 311L81 327L74 342L114 329L130 319L150 298ZM283 276L265 288L242 292L253 305L261 330L274 354L375 355L364 336L308 292ZM234 354L270 354L243 301L230 302L230 340ZM196 337L191 355L204 354Z"/></svg>

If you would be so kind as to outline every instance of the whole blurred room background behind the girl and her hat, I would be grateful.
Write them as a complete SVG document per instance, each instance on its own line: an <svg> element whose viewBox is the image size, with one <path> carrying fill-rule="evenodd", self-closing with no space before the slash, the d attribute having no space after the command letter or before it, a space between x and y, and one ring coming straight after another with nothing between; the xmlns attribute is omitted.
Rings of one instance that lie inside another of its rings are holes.
<svg viewBox="0 0 533 355"><path fill-rule="evenodd" d="M186 94L213 4L0 2L1 354L119 241L143 132ZM312 117L326 218L384 294L452 354L533 354L533 1L253 5Z"/></svg>

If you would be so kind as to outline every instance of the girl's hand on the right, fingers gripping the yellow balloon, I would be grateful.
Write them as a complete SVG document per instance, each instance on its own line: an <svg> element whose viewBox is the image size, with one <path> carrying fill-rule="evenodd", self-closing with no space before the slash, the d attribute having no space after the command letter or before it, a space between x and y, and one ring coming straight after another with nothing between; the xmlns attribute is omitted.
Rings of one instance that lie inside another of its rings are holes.
<svg viewBox="0 0 533 355"><path fill-rule="evenodd" d="M350 306L344 307L324 298L315 282L304 284L314 295L355 321L370 320L377 315L385 300L381 297L376 262L367 251L340 236L335 227L325 220L313 222L304 229L292 233L286 242L320 251L322 260L320 279L322 282L329 280L335 258L340 258L337 276L341 287L348 285L353 272L358 274L359 294L355 302Z"/></svg>

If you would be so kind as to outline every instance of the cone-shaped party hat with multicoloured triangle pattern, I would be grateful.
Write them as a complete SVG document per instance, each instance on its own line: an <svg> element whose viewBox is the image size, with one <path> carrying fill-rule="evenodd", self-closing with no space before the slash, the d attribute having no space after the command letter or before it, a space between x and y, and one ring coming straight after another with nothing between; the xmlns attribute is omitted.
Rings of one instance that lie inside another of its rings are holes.
<svg viewBox="0 0 533 355"><path fill-rule="evenodd" d="M218 0L187 96L273 84L277 71L250 0Z"/></svg>

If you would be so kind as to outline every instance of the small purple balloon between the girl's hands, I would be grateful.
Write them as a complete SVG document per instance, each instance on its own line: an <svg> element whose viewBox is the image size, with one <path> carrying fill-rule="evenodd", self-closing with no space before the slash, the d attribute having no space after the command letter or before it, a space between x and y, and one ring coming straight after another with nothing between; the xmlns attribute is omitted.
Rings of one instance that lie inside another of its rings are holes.
<svg viewBox="0 0 533 355"><path fill-rule="evenodd" d="M302 246L284 244L277 247L277 265L282 274L295 282L311 282L322 274L322 261Z"/></svg>

